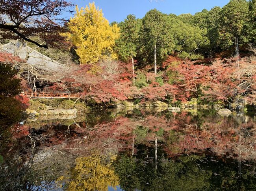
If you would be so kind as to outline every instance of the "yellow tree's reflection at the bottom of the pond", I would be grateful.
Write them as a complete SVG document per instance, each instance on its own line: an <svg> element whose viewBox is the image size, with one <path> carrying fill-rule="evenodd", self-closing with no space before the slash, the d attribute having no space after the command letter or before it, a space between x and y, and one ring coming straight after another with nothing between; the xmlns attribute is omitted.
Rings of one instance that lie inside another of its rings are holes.
<svg viewBox="0 0 256 191"><path fill-rule="evenodd" d="M104 164L99 156L76 158L76 166L71 171L67 190L107 191L108 186L115 188L119 185L119 178L111 164L112 162Z"/></svg>

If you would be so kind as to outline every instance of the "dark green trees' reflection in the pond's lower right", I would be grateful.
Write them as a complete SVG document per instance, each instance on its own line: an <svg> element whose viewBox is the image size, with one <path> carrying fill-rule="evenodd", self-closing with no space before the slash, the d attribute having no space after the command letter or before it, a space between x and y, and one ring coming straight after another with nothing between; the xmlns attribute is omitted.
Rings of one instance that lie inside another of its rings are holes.
<svg viewBox="0 0 256 191"><path fill-rule="evenodd" d="M234 164L197 155L161 158L157 169L146 158L122 155L115 164L115 171L121 188L127 191L256 189L253 170L242 171L243 176L239 178Z"/></svg>

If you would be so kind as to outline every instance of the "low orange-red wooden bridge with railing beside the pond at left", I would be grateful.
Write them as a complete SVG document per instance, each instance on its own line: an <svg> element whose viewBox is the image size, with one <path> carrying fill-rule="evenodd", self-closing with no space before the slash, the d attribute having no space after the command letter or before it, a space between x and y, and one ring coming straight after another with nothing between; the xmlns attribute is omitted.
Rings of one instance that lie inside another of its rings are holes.
<svg viewBox="0 0 256 191"><path fill-rule="evenodd" d="M46 92L43 89L36 89L35 91L28 93L22 92L22 95L28 98L79 98L79 95L72 93L56 93L56 92Z"/></svg>

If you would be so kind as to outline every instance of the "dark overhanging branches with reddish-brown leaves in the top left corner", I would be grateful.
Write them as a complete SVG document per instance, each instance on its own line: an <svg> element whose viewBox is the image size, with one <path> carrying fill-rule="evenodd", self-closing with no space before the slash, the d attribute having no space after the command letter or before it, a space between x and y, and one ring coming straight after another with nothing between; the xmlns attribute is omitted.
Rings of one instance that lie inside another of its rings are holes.
<svg viewBox="0 0 256 191"><path fill-rule="evenodd" d="M1 39L24 39L38 47L63 45L66 18L72 4L65 0L0 0Z"/></svg>

